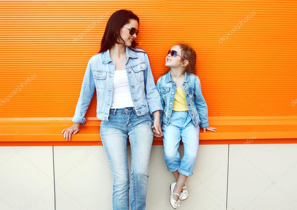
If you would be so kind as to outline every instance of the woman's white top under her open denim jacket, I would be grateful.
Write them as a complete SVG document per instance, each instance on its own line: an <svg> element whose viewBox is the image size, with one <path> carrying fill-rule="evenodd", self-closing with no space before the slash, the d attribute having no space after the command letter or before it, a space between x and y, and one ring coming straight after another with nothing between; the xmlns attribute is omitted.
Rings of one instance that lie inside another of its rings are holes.
<svg viewBox="0 0 297 210"><path fill-rule="evenodd" d="M113 94L110 109L133 107L126 69L115 70L113 76Z"/></svg>

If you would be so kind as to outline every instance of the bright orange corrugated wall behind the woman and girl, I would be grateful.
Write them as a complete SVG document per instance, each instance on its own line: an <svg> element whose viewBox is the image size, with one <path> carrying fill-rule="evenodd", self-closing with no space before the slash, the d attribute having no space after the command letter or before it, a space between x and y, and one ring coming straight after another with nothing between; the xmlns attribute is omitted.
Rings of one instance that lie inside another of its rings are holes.
<svg viewBox="0 0 297 210"><path fill-rule="evenodd" d="M296 115L296 1L61 0L1 1L1 117L72 117L87 62L118 9L139 16L155 81L171 46L192 45L209 116ZM96 116L96 96L86 116Z"/></svg>

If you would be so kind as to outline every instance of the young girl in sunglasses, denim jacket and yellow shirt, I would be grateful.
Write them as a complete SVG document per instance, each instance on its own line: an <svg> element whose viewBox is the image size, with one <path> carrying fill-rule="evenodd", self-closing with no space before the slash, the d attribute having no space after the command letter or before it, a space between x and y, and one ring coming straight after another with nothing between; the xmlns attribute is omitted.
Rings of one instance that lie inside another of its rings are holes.
<svg viewBox="0 0 297 210"><path fill-rule="evenodd" d="M176 182L170 185L170 204L177 209L180 201L188 198L186 179L193 174L199 145L199 126L216 132L208 126L208 109L202 96L200 80L195 75L196 53L186 44L177 44L168 51L165 66L169 67L157 81L163 111L160 121L162 132L154 136L162 137L167 170ZM194 73L194 74L193 74ZM180 159L179 142L184 144L184 156ZM181 192L182 191L182 192Z"/></svg>

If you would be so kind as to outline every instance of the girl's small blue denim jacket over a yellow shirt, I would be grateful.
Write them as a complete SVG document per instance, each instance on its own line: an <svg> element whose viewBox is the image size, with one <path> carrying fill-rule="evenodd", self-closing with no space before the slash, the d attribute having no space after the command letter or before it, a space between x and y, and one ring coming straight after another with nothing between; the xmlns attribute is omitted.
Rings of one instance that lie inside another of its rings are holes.
<svg viewBox="0 0 297 210"><path fill-rule="evenodd" d="M189 114L192 117L193 123L201 128L208 127L208 109L201 92L200 80L195 74L187 72L184 74L185 80L182 83L182 87L186 94ZM163 106L163 111L160 111L160 121L169 124L176 93L176 84L171 79L170 71L158 79L157 89Z"/></svg>

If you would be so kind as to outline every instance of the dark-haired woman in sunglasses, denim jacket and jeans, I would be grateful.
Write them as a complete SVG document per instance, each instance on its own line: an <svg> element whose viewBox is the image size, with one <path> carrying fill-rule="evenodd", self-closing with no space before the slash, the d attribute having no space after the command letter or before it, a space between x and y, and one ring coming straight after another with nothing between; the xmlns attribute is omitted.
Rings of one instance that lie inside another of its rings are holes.
<svg viewBox="0 0 297 210"><path fill-rule="evenodd" d="M128 135L132 153L131 209L140 210L146 206L152 126L162 133L163 108L149 58L144 50L135 49L138 24L139 18L128 10L110 16L101 49L87 65L73 125L62 131L66 140L79 132L80 124L86 123L84 116L96 88L100 137L113 173L114 210L129 209Z"/></svg>

